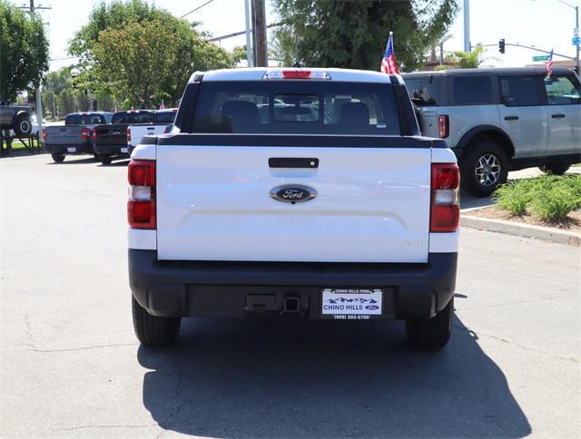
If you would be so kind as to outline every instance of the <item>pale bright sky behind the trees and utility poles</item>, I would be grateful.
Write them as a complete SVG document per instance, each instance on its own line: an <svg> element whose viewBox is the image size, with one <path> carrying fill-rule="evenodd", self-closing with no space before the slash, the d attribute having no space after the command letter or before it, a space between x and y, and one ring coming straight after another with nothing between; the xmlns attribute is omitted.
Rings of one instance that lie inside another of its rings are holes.
<svg viewBox="0 0 581 439"><path fill-rule="evenodd" d="M173 15L182 16L208 0L151 0L151 3L169 10ZM463 0L458 0L460 7ZM507 43L525 44L539 49L575 56L575 46L571 44L575 26L575 10L559 0L469 0L470 41L476 44L495 44L488 48L485 65L519 66L532 63L534 51L507 46L506 54L499 54L498 40ZM28 5L28 0L12 0L15 5ZM50 44L50 69L57 70L74 63L66 59L68 42L74 33L86 22L94 3L92 0L35 0L35 5L51 6L41 14L47 23ZM267 3L267 22L276 21L270 0ZM581 7L581 1L566 0L566 3ZM191 15L190 21L202 22L202 29L213 36L232 34L245 28L244 0L212 0L208 5ZM448 30L451 38L444 45L445 51L463 50L464 19L460 10L454 24ZM386 29L386 40L389 29ZM395 51L398 54L398 35ZM244 35L222 41L222 47L231 49L246 43ZM538 53L540 54L540 53ZM378 68L382 53L378 54ZM555 56L555 60L562 60Z"/></svg>

